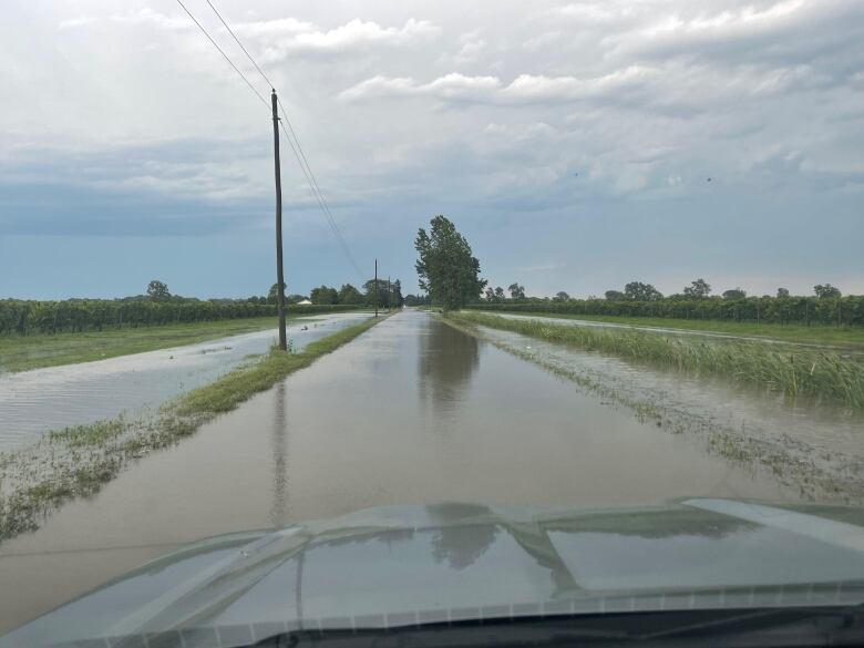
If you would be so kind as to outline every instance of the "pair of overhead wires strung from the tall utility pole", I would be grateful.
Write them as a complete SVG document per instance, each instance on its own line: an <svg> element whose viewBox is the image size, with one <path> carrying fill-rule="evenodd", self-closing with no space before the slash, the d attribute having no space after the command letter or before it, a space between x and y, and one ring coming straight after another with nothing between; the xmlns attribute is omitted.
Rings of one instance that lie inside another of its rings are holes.
<svg viewBox="0 0 864 648"><path fill-rule="evenodd" d="M198 20L192 14L192 12L186 8L186 6L182 2L182 0L176 0L177 3L183 8L183 10L188 14L188 17L195 22L195 24L198 27L198 29L204 33L205 37L207 37L207 40L213 43L213 45L219 51L219 53L225 58L225 60L230 64L232 68L243 78L243 80L246 82L246 84L249 86L249 89L256 94L256 96L261 101L261 103L265 104L265 106L270 107L269 102L267 102L266 99L256 90L256 88L251 84L251 82L246 78L246 75L240 71L239 68L234 63L234 61L225 53L225 51L218 45L218 43L210 37L210 34L207 32L206 29L198 22ZM234 41L237 43L237 45L243 50L244 54L246 54L246 58L249 59L249 62L253 64L255 70L260 74L261 79L272 89L274 93L276 92L275 85L270 82L270 80L267 78L267 75L264 73L261 68L258 65L258 63L255 61L253 55L249 53L249 51L246 49L246 47L243 44L240 39L237 37L237 34L234 32L234 30L230 28L228 22L223 18L222 13L216 9L216 7L213 4L210 0L205 0L209 8L213 10L213 12L216 14L216 17L219 19L222 24L225 27L225 29L228 31L228 33L232 35ZM339 246L342 248L342 253L346 255L346 258L348 259L349 264L353 267L353 270L357 272L358 279L363 282L363 272L360 269L360 266L357 264L357 260L354 259L353 255L351 254L350 248L348 247L348 244L344 240L344 237L342 236L342 233L339 229L338 224L336 223L336 218L332 215L332 212L330 210L330 206L327 204L326 198L323 197L323 193L321 192L320 186L318 185L318 178L315 177L315 173L312 172L312 167L309 164L309 160L306 156L306 152L302 150L302 145L300 144L300 138L297 136L296 131L294 130L294 126L291 125L290 120L288 119L288 113L285 110L285 106L282 105L281 100L279 100L277 95L277 102L279 110L281 111L282 120L279 120L279 125L281 126L282 132L285 133L286 138L288 140L288 144L291 147L291 152L294 153L295 158L297 160L297 164L300 166L300 171L302 172L304 176L306 177L307 183L309 184L309 188L312 192L312 195L315 196L316 200L318 202L318 206L321 208L321 213L325 216L325 219L327 220L327 224L329 225L331 232L333 233L333 236L336 237L337 241L339 243ZM288 130L286 130L285 124L288 125ZM290 134L289 134L290 133Z"/></svg>

